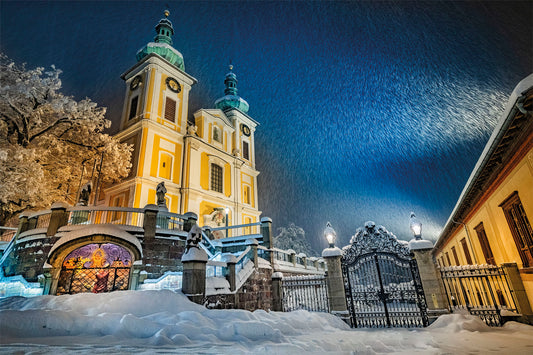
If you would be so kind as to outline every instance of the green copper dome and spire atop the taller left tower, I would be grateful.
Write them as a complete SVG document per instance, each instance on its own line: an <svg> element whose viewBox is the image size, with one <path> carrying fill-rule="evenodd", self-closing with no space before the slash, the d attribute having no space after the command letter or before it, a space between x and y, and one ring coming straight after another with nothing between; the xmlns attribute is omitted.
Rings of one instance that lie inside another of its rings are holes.
<svg viewBox="0 0 533 355"><path fill-rule="evenodd" d="M155 26L157 35L154 38L154 42L148 43L137 52L137 61L140 61L149 54L155 53L185 71L183 56L172 47L174 28L172 27L172 22L167 18L169 14L168 10L165 10L165 17Z"/></svg>

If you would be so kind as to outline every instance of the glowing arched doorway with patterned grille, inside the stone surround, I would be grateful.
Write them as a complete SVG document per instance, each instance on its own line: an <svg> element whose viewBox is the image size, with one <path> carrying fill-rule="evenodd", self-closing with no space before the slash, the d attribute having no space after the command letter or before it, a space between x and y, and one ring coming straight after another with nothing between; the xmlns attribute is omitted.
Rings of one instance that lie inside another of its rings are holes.
<svg viewBox="0 0 533 355"><path fill-rule="evenodd" d="M83 245L63 259L56 294L127 290L132 264L132 254L118 244Z"/></svg>

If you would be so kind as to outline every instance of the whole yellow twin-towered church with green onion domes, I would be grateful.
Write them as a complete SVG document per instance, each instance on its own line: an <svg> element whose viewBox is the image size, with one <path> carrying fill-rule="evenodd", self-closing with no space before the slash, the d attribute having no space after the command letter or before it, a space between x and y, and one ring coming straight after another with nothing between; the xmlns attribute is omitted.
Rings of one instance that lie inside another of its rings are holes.
<svg viewBox="0 0 533 355"><path fill-rule="evenodd" d="M105 189L101 202L137 208L155 204L156 186L164 182L169 211L194 212L200 225L223 226L226 213L229 225L259 222L258 123L237 95L231 66L225 95L214 109L195 112L195 124L188 123L189 93L197 81L172 47L174 30L167 17L166 11L154 42L137 53L137 63L121 76L126 93L117 137L134 145L133 166L127 179Z"/></svg>

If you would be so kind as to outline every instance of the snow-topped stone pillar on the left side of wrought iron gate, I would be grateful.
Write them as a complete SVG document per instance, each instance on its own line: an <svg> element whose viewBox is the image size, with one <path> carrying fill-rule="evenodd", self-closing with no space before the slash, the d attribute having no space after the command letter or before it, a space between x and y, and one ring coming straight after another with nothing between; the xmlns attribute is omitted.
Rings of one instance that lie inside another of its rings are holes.
<svg viewBox="0 0 533 355"><path fill-rule="evenodd" d="M326 248L322 251L322 257L326 260L328 266L326 283L328 286L330 312L350 324L350 314L348 313L346 293L344 291L344 278L342 277L342 250L337 247Z"/></svg>

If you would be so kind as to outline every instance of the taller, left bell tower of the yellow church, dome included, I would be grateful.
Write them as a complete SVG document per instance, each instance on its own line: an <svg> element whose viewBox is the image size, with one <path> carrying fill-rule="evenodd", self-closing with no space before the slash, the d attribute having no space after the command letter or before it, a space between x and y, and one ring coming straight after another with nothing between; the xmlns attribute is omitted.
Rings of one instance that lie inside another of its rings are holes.
<svg viewBox="0 0 533 355"><path fill-rule="evenodd" d="M196 79L185 72L183 56L172 46L174 28L168 16L165 11L154 41L137 52L137 63L121 75L125 97L117 137L132 144L134 152L129 177L105 190L109 206L155 203L156 186L164 181L167 206L179 212L183 136Z"/></svg>

